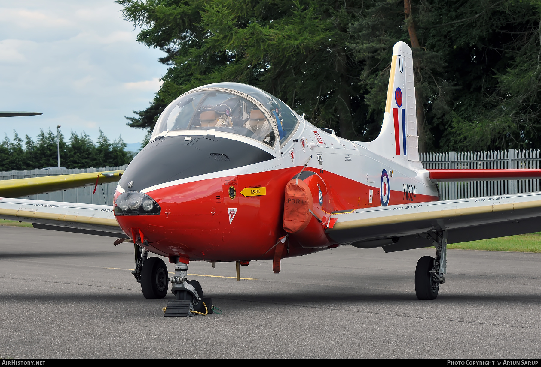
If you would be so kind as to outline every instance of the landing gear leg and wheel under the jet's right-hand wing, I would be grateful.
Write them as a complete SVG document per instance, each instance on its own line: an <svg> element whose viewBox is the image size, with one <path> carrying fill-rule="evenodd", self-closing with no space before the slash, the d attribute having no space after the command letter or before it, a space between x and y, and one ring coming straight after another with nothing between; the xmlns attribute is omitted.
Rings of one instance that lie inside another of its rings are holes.
<svg viewBox="0 0 541 367"><path fill-rule="evenodd" d="M423 256L415 268L415 294L421 301L436 299L447 273L447 231L428 233L436 246L436 258Z"/></svg>

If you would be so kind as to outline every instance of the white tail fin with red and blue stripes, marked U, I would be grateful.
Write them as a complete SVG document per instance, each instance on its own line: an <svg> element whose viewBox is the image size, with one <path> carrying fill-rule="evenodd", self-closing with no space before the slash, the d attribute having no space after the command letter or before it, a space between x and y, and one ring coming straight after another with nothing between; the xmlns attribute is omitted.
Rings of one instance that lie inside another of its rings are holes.
<svg viewBox="0 0 541 367"><path fill-rule="evenodd" d="M397 42L393 47L383 124L370 148L387 158L419 161L417 138L412 52L406 43Z"/></svg>

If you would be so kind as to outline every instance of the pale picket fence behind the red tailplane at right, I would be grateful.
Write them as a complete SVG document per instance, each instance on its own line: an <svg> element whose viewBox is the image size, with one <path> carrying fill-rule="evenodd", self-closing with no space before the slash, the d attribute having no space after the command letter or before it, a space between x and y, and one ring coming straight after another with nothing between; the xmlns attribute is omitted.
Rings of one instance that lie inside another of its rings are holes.
<svg viewBox="0 0 541 367"><path fill-rule="evenodd" d="M489 152L445 152L420 155L426 169L541 168L539 150L498 150ZM541 180L440 182L441 199L506 195L541 191Z"/></svg>

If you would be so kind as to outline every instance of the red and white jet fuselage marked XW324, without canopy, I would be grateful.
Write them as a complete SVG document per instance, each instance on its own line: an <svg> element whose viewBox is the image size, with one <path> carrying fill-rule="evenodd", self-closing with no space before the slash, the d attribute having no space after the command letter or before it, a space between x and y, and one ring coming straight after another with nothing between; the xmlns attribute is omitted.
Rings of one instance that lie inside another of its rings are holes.
<svg viewBox="0 0 541 367"><path fill-rule="evenodd" d="M304 173L313 195L315 218L324 230L332 227L331 214L390 204L438 200L436 185L420 162L399 165L370 150L371 143L350 142L329 134L299 116L299 126L281 149L273 150L249 138L215 131L169 132L167 139L187 137L238 139L273 156L268 161L225 171L183 178L144 188L141 192L161 207L158 216L117 216L124 232L142 233L147 248L183 261L251 261L272 259L269 251L288 233L283 229L284 189L307 164ZM194 148L195 149L195 148ZM216 152L227 155L227 151ZM144 154L144 150L140 154ZM207 154L208 154L207 153ZM182 157L179 157L182 161ZM129 168L118 187L131 180ZM143 172L137 172L143 174ZM169 174L169 172L164 172ZM292 236L294 237L294 236ZM337 243L328 236L318 242L296 241L285 256L305 255Z"/></svg>

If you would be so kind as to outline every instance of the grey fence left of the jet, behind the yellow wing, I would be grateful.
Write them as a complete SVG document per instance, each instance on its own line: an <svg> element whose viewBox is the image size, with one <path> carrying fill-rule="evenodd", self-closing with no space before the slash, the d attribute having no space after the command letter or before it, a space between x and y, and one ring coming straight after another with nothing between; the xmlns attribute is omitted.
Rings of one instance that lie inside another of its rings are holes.
<svg viewBox="0 0 541 367"><path fill-rule="evenodd" d="M102 171L116 171L126 170L128 165L121 166L109 166L109 167L91 167L80 169L66 169L66 168L51 168L47 170L25 170L25 171L4 171L0 172L0 179L14 179L14 178L30 178L30 177L44 177L44 176L56 176L56 175L71 175L71 174L86 174L88 172L102 172ZM45 200L45 201L57 201L67 203L85 203L85 204L101 204L101 205L113 205L113 195L115 195L116 182L110 182L102 185L98 185L96 192L93 194L94 185L85 186L84 188L52 191L46 193L40 193L39 195L23 196L21 199L33 199L33 200Z"/></svg>

